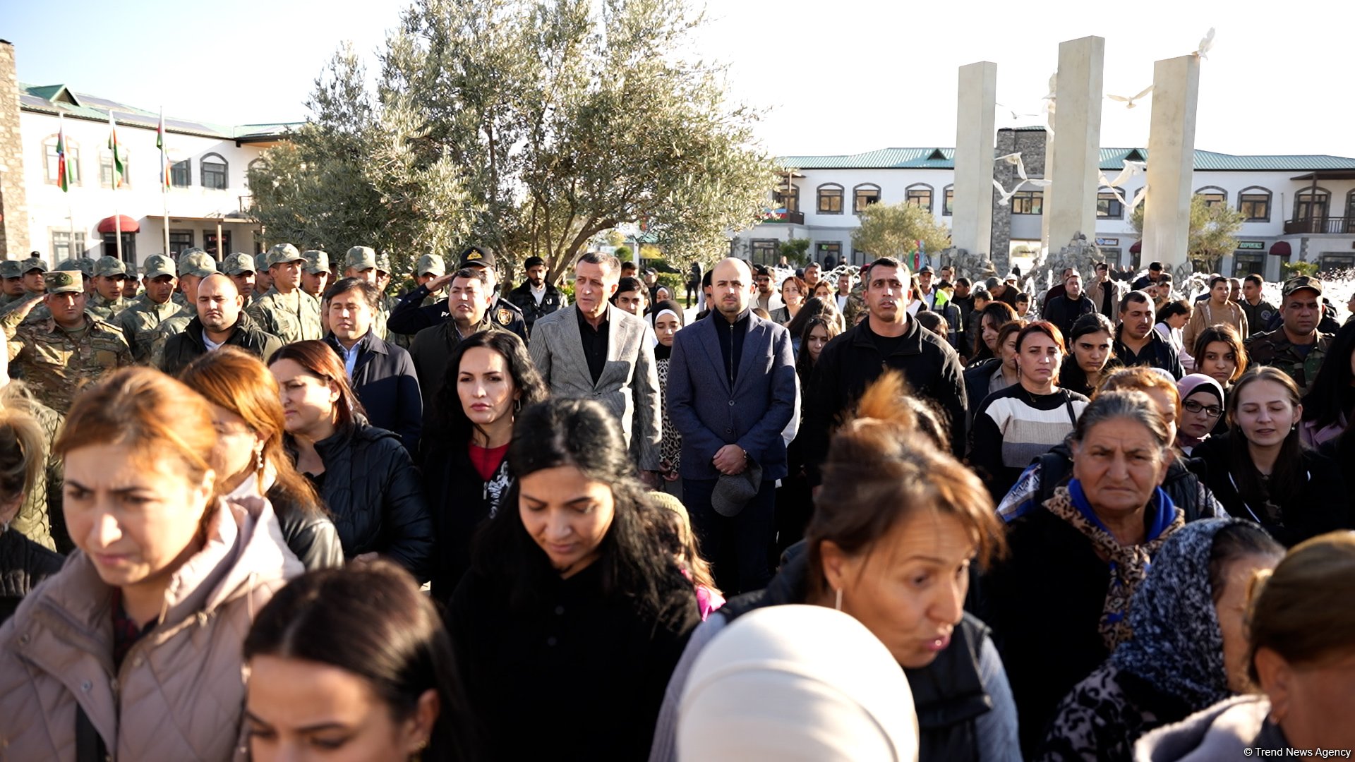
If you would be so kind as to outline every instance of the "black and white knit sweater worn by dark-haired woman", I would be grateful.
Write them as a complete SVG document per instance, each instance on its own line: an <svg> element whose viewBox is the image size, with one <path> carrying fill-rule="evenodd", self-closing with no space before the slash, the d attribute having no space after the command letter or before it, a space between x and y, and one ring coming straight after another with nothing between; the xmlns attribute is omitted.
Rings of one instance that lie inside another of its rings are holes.
<svg viewBox="0 0 1355 762"><path fill-rule="evenodd" d="M984 477L995 502L1001 500L1034 458L1072 434L1073 419L1083 414L1088 401L1068 389L1033 395L1014 384L978 405L969 462Z"/></svg>

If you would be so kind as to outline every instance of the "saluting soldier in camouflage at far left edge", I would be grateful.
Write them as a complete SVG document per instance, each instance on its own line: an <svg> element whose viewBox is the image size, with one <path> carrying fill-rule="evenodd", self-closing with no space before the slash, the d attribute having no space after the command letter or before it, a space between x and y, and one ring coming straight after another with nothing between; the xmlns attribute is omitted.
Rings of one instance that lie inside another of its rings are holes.
<svg viewBox="0 0 1355 762"><path fill-rule="evenodd" d="M9 361L23 370L33 393L42 404L65 414L81 386L131 365L131 351L115 327L85 313L87 297L75 274L58 270L43 279L47 287L43 301L51 317L20 325L37 305L27 301L0 319L0 328L9 343Z"/></svg>

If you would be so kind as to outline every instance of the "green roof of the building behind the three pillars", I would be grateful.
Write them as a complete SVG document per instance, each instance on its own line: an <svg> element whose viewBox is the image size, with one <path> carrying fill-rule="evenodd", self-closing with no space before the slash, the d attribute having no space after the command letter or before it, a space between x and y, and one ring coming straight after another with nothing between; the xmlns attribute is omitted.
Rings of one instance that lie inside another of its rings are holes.
<svg viewBox="0 0 1355 762"><path fill-rule="evenodd" d="M1126 160L1146 161L1146 148L1103 148L1102 169L1121 169ZM794 169L954 169L954 148L881 148L839 156L780 156L782 167ZM1355 159L1327 155L1234 156L1214 151L1195 152L1195 171L1301 172L1312 169L1355 169Z"/></svg>

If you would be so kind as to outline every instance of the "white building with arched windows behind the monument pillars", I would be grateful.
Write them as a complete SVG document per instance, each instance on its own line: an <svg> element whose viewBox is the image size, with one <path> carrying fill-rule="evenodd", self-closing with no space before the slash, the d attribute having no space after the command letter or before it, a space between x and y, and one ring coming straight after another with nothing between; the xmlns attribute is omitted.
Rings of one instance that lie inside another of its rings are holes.
<svg viewBox="0 0 1355 762"><path fill-rule="evenodd" d="M1005 130L1004 130L1005 132ZM1031 130L1026 130L1031 132ZM1042 145L1043 140L1026 145ZM1030 176L1039 178L1043 156L1026 156ZM1125 161L1148 161L1146 149L1103 148L1100 168L1107 179L1121 174ZM770 198L768 220L738 233L732 248L753 262L779 260L778 247L789 239L809 239L816 262L863 264L871 256L855 251L851 233L858 212L870 203L909 202L928 209L950 225L954 183L954 151L950 148L892 148L851 156L780 157L786 176ZM1316 175L1316 176L1314 176ZM1337 156L1233 156L1195 152L1195 193L1210 203L1243 212L1238 248L1225 256L1222 271L1260 273L1282 278L1282 264L1302 259L1322 271L1355 267L1355 159ZM786 180L791 190L787 191ZM1138 174L1118 186L1133 199L1146 176ZM1007 184L1011 187L1011 183ZM785 210L785 212L782 212ZM1039 249L1043 191L1026 186L1009 205L996 202L993 248ZM1106 259L1118 264L1138 262L1138 235L1129 210L1110 187L1098 198L1096 241ZM1091 237L1091 236L1088 236ZM1066 241L1050 241L1058 247ZM930 255L938 252L928 252Z"/></svg>

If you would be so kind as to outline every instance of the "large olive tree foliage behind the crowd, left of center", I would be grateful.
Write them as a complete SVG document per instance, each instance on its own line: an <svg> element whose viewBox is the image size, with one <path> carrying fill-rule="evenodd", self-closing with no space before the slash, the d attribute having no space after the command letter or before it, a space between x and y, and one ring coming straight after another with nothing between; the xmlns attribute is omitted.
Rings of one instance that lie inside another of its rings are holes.
<svg viewBox="0 0 1355 762"><path fill-rule="evenodd" d="M421 230L415 255L473 239L550 281L623 224L722 254L775 175L724 69L682 54L702 22L684 0L416 0L374 88L351 50L317 80L313 118L251 175L257 214L274 237L377 210L362 232Z"/></svg>

